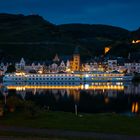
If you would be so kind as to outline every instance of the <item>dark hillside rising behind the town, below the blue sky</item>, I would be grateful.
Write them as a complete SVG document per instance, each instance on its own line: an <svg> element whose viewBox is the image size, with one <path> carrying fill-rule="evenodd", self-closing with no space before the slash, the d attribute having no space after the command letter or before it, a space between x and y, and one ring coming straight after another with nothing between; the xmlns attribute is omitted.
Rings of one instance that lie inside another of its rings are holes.
<svg viewBox="0 0 140 140"><path fill-rule="evenodd" d="M83 59L102 55L106 46L115 48L110 55L118 55L117 48L123 50L119 55L126 55L129 43L139 35L139 30L108 25L55 25L39 15L0 14L0 59L46 60L55 53L71 55L77 45Z"/></svg>

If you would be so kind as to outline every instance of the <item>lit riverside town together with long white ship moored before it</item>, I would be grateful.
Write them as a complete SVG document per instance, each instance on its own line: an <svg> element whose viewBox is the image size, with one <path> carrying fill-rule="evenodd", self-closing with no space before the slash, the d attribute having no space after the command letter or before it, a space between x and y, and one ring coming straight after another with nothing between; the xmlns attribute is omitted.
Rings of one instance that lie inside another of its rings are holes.
<svg viewBox="0 0 140 140"><path fill-rule="evenodd" d="M134 41L133 41L134 43ZM108 53L110 48L105 48ZM10 74L8 71L14 67ZM9 68L9 69L8 69ZM43 82L43 81L131 81L135 74L140 74L140 61L116 57L94 58L85 63L80 61L79 48L76 47L71 56L58 56L51 61L26 63L24 58L15 64L1 63L3 80L13 82Z"/></svg>

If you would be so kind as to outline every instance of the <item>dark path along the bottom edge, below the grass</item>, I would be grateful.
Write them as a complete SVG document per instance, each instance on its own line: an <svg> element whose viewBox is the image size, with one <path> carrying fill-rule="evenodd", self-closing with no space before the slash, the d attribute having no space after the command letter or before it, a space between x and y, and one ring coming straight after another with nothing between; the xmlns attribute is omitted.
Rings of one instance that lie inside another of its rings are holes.
<svg viewBox="0 0 140 140"><path fill-rule="evenodd" d="M66 130L52 130L52 129L37 129L25 127L9 127L0 126L1 132L22 133L24 135L38 136L38 138L30 139L44 139L43 137L58 137L57 139L97 139L97 140L140 140L140 136L127 136L108 133L94 133L94 132L80 132L80 131L66 131ZM42 138L39 138L41 136ZM15 140L13 137L0 137L1 140ZM21 138L17 138L21 139ZM29 139L29 138L27 138ZM49 138L52 139L52 138Z"/></svg>

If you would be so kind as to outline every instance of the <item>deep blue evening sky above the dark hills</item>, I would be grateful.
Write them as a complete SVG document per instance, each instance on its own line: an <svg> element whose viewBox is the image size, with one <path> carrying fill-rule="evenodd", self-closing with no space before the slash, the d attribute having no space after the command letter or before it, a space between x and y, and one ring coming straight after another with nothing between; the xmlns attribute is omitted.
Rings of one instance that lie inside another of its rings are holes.
<svg viewBox="0 0 140 140"><path fill-rule="evenodd" d="M0 13L39 14L55 24L140 27L140 0L0 0Z"/></svg>

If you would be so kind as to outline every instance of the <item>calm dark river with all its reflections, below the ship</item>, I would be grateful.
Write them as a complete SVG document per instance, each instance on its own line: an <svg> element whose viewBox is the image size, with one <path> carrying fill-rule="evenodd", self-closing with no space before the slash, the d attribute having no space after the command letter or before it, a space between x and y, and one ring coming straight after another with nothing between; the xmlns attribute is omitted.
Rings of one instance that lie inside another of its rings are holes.
<svg viewBox="0 0 140 140"><path fill-rule="evenodd" d="M50 110L99 113L139 112L140 83L42 83L5 86L6 98L18 96L22 100L32 100ZM0 92L0 100L4 100Z"/></svg>

